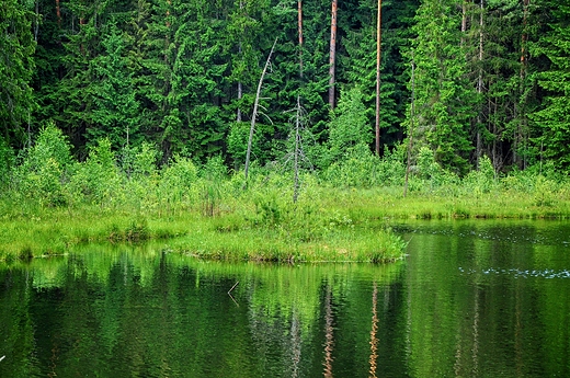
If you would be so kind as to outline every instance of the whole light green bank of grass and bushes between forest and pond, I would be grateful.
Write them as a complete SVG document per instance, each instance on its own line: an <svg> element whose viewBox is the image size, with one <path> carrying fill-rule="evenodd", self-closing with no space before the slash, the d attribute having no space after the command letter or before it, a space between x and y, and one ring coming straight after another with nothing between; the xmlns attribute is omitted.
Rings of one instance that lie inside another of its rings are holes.
<svg viewBox="0 0 570 378"><path fill-rule="evenodd" d="M570 218L570 180L542 164L498 175L482 159L459 177L431 157L413 167L404 197L397 154L346 156L301 172L294 203L290 171L252 165L246 184L219 157L158 167L149 148L121 165L109 140L75 162L65 140L50 138L1 177L0 260L161 240L205 259L385 262L404 253L395 219Z"/></svg>

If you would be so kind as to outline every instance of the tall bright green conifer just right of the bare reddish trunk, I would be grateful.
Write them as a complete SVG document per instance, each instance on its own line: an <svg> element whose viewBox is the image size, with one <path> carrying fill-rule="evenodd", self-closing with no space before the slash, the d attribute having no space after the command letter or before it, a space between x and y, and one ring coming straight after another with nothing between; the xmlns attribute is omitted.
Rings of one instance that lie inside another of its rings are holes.
<svg viewBox="0 0 570 378"><path fill-rule="evenodd" d="M417 144L426 144L445 169L469 169L469 121L475 88L460 46L461 14L452 0L425 0L415 16Z"/></svg>

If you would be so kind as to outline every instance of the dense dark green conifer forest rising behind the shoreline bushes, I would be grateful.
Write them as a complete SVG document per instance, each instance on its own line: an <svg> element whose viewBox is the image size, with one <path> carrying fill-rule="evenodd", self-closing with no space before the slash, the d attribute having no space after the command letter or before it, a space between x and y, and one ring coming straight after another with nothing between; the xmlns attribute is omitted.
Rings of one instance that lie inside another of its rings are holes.
<svg viewBox="0 0 570 378"><path fill-rule="evenodd" d="M380 156L411 147L412 165L428 153L458 175L482 157L495 172L568 171L569 13L551 0L4 0L0 172L48 125L79 161L106 138L123 162L150 144L159 164L220 156L240 170L275 39L252 160L286 160L295 114L311 167L372 154L377 35Z"/></svg>

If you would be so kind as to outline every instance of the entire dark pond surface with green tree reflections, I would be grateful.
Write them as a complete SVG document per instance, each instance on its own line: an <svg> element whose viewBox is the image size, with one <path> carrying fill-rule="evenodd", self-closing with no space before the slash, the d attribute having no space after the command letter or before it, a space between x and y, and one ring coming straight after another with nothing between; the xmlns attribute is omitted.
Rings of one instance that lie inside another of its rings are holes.
<svg viewBox="0 0 570 378"><path fill-rule="evenodd" d="M570 377L570 224L394 228L389 265L164 245L0 265L0 377Z"/></svg>

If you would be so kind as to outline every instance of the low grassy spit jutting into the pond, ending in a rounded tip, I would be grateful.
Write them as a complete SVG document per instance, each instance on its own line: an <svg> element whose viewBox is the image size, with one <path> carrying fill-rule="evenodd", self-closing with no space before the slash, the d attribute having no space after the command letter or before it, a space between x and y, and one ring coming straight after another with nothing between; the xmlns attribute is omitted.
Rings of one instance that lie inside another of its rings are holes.
<svg viewBox="0 0 570 378"><path fill-rule="evenodd" d="M271 220L263 210L250 211L247 206L214 216L191 209L136 214L99 207L4 215L0 260L66 254L86 243L146 241L160 241L161 248L173 252L227 261L388 262L402 256L404 243L388 228L354 225L334 211L332 216L327 211L297 216L300 213L273 214Z"/></svg>

